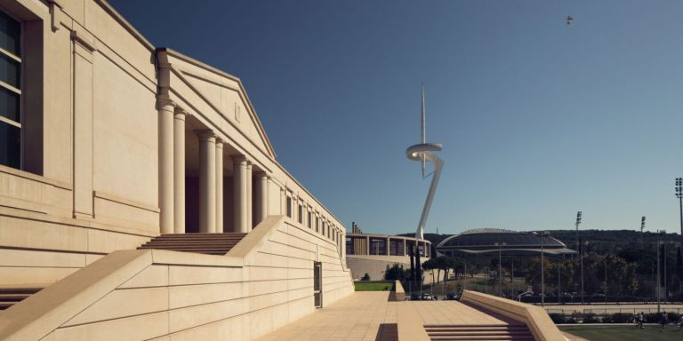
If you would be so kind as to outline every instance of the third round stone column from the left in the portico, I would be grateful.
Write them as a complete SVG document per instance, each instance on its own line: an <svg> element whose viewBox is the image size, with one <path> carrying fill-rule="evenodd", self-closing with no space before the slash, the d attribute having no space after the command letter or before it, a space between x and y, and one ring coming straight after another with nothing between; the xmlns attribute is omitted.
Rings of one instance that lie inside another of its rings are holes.
<svg viewBox="0 0 683 341"><path fill-rule="evenodd" d="M216 136L197 131L199 136L199 232L216 232Z"/></svg>

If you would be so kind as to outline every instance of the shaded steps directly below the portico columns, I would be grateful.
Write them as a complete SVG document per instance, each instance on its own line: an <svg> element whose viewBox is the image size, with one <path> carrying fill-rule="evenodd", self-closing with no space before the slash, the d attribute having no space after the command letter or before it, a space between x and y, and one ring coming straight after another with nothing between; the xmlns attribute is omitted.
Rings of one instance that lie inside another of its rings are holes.
<svg viewBox="0 0 683 341"><path fill-rule="evenodd" d="M225 255L246 234L162 234L144 243L138 250L172 250Z"/></svg>

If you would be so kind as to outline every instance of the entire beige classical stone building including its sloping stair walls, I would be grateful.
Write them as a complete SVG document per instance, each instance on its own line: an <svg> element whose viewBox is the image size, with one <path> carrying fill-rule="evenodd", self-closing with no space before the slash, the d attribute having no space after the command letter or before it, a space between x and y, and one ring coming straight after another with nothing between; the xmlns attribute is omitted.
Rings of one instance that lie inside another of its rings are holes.
<svg viewBox="0 0 683 341"><path fill-rule="evenodd" d="M353 290L237 77L104 0L0 2L0 63L0 339L247 340Z"/></svg>

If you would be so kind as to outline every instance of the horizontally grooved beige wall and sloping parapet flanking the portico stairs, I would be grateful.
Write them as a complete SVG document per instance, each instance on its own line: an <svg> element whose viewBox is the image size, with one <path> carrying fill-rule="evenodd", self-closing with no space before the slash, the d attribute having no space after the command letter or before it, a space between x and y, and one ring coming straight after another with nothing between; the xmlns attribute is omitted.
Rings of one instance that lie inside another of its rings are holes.
<svg viewBox="0 0 683 341"><path fill-rule="evenodd" d="M350 295L333 242L270 217L226 256L114 252L3 313L4 340L251 340Z"/></svg>

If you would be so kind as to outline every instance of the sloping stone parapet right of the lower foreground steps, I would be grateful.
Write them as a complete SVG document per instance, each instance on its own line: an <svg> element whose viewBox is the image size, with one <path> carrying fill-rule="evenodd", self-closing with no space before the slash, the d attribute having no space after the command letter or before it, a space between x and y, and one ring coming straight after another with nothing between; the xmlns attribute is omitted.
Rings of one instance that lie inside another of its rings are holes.
<svg viewBox="0 0 683 341"><path fill-rule="evenodd" d="M527 305L470 290L464 290L461 300L526 323L537 341L565 340L558 327L550 320L548 313L545 313L540 306Z"/></svg>

